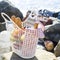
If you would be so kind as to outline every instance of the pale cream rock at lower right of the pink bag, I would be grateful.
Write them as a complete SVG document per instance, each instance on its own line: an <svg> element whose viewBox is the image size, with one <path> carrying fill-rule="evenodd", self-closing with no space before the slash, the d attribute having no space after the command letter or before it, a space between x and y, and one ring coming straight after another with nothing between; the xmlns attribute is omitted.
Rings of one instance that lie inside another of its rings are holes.
<svg viewBox="0 0 60 60"><path fill-rule="evenodd" d="M57 60L56 56L48 51L45 50L38 50L36 52L36 57L39 58L38 60Z"/></svg>

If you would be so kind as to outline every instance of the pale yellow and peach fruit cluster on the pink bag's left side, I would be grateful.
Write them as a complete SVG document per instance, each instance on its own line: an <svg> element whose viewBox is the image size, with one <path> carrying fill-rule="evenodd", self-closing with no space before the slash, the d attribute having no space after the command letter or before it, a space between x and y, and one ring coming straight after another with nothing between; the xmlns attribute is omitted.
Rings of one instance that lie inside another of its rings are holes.
<svg viewBox="0 0 60 60"><path fill-rule="evenodd" d="M24 28L22 29L22 30L25 30ZM13 40L13 41L15 41L15 40L21 40L21 41L23 41L24 40L24 38L25 38L25 35L24 35L24 31L22 31L22 30L20 30L20 29L15 29L15 30L13 30L12 32L11 32L11 37L10 37L10 39L11 40ZM22 35L23 34L23 35ZM19 35L20 35L20 37L19 37ZM22 36L21 36L22 35Z"/></svg>

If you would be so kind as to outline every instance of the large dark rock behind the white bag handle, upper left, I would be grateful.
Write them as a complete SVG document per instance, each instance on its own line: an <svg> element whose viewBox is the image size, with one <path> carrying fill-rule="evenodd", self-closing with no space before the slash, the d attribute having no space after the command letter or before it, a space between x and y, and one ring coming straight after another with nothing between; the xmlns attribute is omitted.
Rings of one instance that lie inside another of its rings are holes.
<svg viewBox="0 0 60 60"><path fill-rule="evenodd" d="M23 19L22 12L18 8L13 7L11 5L11 3L6 2L6 1L0 2L0 13L1 12L6 13L9 17L11 17L12 15L15 15L16 17L20 17L21 20ZM9 19L7 18L7 20L9 20ZM1 14L0 14L0 32L3 30L6 30L6 24L5 23L2 24L3 22L5 22L5 20L2 18Z"/></svg>

